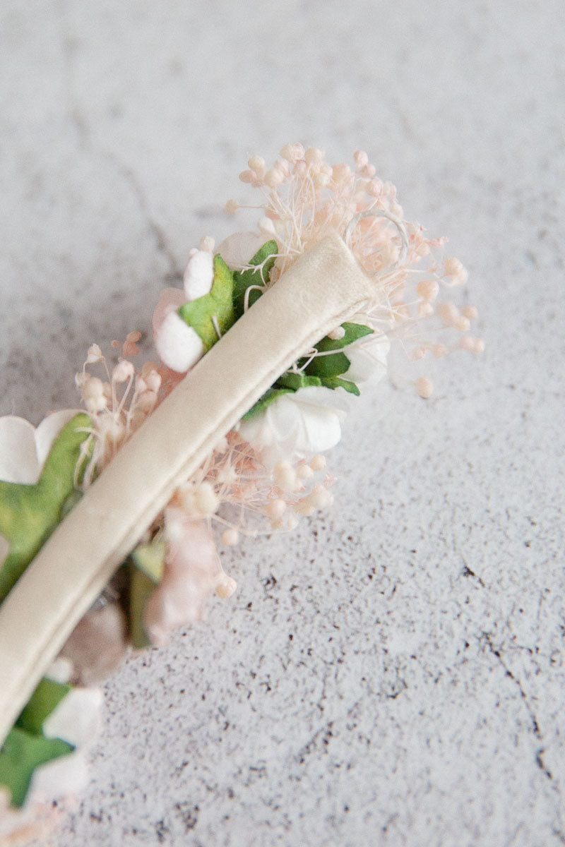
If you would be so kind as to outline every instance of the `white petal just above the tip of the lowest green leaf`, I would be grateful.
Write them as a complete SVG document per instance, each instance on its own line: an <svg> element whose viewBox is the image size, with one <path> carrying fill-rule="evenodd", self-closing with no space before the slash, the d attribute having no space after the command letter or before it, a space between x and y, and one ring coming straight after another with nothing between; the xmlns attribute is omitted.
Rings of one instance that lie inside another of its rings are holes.
<svg viewBox="0 0 565 847"><path fill-rule="evenodd" d="M94 739L100 728L102 691L74 688L43 722L47 738L63 739L82 747Z"/></svg>

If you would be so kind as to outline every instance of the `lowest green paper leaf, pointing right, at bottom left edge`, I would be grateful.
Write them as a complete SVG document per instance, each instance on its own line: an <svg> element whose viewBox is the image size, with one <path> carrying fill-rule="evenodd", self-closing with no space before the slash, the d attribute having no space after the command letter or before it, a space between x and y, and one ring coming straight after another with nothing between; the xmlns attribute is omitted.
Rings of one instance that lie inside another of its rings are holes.
<svg viewBox="0 0 565 847"><path fill-rule="evenodd" d="M0 750L0 784L12 794L12 805L24 805L36 767L73 750L73 745L62 739L47 739L14 727Z"/></svg>

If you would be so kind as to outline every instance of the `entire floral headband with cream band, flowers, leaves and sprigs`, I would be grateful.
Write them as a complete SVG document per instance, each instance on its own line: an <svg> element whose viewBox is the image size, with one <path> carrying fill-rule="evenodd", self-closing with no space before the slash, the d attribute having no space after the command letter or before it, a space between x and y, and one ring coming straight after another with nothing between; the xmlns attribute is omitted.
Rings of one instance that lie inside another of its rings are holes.
<svg viewBox="0 0 565 847"><path fill-rule="evenodd" d="M0 842L75 792L95 686L127 650L163 645L234 592L218 541L330 507L324 452L391 346L414 368L483 349L474 307L446 297L462 264L403 219L366 153L331 166L290 144L240 179L263 197L258 229L189 252L153 314L159 362L136 368L138 332L113 342L117 362L92 344L82 409L36 429L0 418ZM413 381L429 397L429 377Z"/></svg>

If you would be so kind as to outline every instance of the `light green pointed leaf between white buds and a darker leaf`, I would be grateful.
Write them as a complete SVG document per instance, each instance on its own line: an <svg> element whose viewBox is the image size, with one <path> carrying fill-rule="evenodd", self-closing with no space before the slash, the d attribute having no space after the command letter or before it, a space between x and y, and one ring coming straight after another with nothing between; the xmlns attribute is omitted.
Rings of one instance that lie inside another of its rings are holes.
<svg viewBox="0 0 565 847"><path fill-rule="evenodd" d="M235 322L233 297L233 275L224 259L217 254L213 257L212 289L208 294L184 303L179 309L180 317L200 335L204 352L208 352L219 340L213 318L218 322L220 335L224 335Z"/></svg>

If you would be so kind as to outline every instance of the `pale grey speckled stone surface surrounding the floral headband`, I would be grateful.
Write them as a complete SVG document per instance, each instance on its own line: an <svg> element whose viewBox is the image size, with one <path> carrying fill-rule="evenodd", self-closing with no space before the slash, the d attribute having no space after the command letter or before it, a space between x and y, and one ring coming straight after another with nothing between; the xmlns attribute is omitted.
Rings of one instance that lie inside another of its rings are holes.
<svg viewBox="0 0 565 847"><path fill-rule="evenodd" d="M487 351L366 393L335 507L107 686L59 847L565 843L562 0L3 0L0 413L147 331L246 156L368 150ZM148 349L148 341L146 343Z"/></svg>

